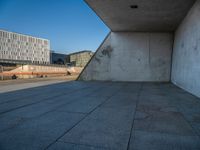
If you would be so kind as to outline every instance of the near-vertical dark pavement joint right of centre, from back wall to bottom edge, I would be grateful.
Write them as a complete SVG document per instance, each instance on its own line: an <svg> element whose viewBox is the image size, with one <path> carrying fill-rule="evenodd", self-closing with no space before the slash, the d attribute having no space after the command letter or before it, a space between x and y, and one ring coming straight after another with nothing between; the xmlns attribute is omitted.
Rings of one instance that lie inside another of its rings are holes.
<svg viewBox="0 0 200 150"><path fill-rule="evenodd" d="M128 140L128 143L127 143L127 150L129 150L129 148L130 148L130 142L131 142L132 131L134 130L133 127L134 127L134 123L135 123L135 116L136 116L137 107L138 107L138 103L139 103L140 96L141 96L141 92L142 92L142 88L143 88L143 84L142 84L142 83L140 83L140 84L141 84L141 85L140 85L140 88L139 88L138 94L137 94L137 101L136 101L136 106L135 106L135 112L134 112L134 114L133 114L133 121L132 121L132 125L131 125L129 140ZM134 137L133 137L133 141L134 141Z"/></svg>

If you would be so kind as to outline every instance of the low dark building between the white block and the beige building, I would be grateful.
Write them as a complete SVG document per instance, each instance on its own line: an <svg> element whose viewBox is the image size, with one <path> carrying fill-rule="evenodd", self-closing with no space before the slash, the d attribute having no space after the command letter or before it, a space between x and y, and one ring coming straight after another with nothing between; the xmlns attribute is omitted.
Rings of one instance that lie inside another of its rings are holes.
<svg viewBox="0 0 200 150"><path fill-rule="evenodd" d="M69 62L69 59L67 59L69 56L66 54L60 54L51 51L51 64L60 64L64 65L66 62Z"/></svg>

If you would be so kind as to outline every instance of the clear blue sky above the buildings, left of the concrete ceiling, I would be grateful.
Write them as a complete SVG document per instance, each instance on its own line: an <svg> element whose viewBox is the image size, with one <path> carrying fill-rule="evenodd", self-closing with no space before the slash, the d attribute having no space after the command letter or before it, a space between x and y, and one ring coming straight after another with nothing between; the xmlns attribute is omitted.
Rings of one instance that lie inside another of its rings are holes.
<svg viewBox="0 0 200 150"><path fill-rule="evenodd" d="M83 0L0 0L0 29L51 41L51 49L95 51L109 29Z"/></svg>

